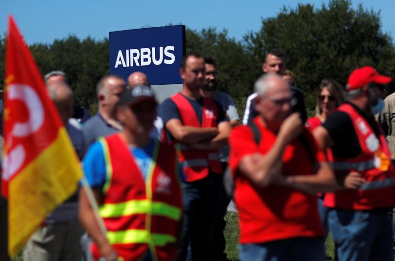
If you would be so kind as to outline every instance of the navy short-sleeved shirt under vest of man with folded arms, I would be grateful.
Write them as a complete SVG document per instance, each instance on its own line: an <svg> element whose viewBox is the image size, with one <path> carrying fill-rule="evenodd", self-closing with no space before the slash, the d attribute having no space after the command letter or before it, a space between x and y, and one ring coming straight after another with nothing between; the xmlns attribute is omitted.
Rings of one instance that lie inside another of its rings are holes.
<svg viewBox="0 0 395 261"><path fill-rule="evenodd" d="M183 94L181 94L183 95ZM200 124L202 121L202 112L203 112L203 98L197 99L197 100L192 100L185 95L183 95L191 104L191 106L194 108L194 111L197 115L197 119L199 120ZM224 113L224 109L222 106L214 101L214 103L217 105L218 108L218 117L217 117L217 122L218 124L227 121L227 118ZM169 121L170 119L179 119L181 120L180 112L178 111L177 105L170 99L166 99L163 101L163 103L159 106L159 117L163 121L163 126L166 126L166 122ZM165 128L166 130L166 128ZM168 141L172 141L173 137L171 134L166 130L166 136L168 138Z"/></svg>

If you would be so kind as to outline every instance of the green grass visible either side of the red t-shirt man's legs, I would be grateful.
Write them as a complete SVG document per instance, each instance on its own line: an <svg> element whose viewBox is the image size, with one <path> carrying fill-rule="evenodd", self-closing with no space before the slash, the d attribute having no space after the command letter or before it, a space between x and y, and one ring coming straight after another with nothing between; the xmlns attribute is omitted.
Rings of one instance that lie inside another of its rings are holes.
<svg viewBox="0 0 395 261"><path fill-rule="evenodd" d="M229 211L225 216L226 226L224 231L224 236L226 240L226 248L225 253L228 256L228 259L231 261L237 261L237 242L238 242L238 217L237 213L233 211ZM332 237L330 234L326 238L325 242L325 252L327 261L333 261L335 245L333 244Z"/></svg>

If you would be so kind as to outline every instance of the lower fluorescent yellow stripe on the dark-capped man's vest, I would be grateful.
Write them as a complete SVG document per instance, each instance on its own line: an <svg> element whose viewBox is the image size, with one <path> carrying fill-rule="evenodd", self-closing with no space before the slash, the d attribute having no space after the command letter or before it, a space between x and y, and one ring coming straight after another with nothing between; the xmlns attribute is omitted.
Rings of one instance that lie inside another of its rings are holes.
<svg viewBox="0 0 395 261"><path fill-rule="evenodd" d="M107 239L111 245L114 244L153 244L162 247L167 243L175 243L174 236L166 234L150 234L147 230L129 229L124 231L108 231Z"/></svg>

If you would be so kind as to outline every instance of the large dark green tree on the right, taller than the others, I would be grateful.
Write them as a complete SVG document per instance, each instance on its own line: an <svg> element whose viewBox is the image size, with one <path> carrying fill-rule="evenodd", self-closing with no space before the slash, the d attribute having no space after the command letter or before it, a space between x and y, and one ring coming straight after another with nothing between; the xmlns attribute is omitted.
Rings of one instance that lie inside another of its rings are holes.
<svg viewBox="0 0 395 261"><path fill-rule="evenodd" d="M362 5L355 10L349 0L331 0L320 9L311 4L283 7L276 17L262 20L259 32L244 39L256 65L271 48L285 51L287 66L295 73L297 86L305 90L311 110L322 78L345 85L348 75L364 65L383 74L395 73L395 48L381 31L380 13Z"/></svg>

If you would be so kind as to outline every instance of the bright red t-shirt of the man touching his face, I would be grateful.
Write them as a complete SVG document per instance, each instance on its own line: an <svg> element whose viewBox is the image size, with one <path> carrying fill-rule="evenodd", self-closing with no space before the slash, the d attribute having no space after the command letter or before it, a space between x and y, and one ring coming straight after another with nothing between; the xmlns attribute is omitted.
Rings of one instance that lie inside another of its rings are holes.
<svg viewBox="0 0 395 261"><path fill-rule="evenodd" d="M229 138L229 165L236 175L234 200L240 218L240 243L323 236L316 195L284 186L257 190L238 170L238 164L244 156L257 152L265 154L276 140L276 134L266 129L258 117L254 118L254 123L261 133L259 146L254 141L251 128L245 125L236 127ZM284 150L283 175L313 174L312 158L316 161L325 160L325 155L318 149L307 128L304 129L304 136L311 154L299 139L295 139Z"/></svg>

